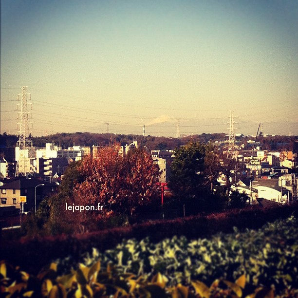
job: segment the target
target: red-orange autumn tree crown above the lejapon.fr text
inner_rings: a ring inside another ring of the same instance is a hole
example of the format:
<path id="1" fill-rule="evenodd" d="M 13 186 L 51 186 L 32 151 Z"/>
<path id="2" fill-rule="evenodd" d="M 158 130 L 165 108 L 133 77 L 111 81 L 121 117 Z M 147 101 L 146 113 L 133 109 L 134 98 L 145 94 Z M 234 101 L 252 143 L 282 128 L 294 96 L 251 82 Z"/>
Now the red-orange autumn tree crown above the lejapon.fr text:
<path id="1" fill-rule="evenodd" d="M 159 169 L 144 150 L 130 149 L 122 155 L 120 147 L 103 147 L 95 158 L 82 160 L 78 172 L 83 182 L 75 185 L 76 205 L 103 205 L 97 218 L 112 214 L 132 215 L 138 206 L 156 197 Z"/>

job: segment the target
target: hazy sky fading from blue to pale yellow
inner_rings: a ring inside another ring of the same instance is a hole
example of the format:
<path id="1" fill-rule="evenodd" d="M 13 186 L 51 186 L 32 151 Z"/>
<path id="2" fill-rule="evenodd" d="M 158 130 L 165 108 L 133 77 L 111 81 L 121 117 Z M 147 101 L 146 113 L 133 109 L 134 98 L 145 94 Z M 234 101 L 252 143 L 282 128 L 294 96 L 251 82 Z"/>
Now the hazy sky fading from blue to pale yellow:
<path id="1" fill-rule="evenodd" d="M 1 133 L 298 135 L 298 0 L 0 5 Z"/>

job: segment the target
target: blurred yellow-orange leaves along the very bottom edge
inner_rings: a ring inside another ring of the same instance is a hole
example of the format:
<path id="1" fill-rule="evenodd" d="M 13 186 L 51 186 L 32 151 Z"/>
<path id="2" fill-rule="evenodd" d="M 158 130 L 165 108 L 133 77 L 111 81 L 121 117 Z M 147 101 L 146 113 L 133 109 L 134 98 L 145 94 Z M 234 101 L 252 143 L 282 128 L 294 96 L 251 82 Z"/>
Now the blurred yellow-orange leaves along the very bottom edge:
<path id="1" fill-rule="evenodd" d="M 106 271 L 100 271 L 100 262 L 92 266 L 79 264 L 76 271 L 57 277 L 56 263 L 37 277 L 12 268 L 5 262 L 0 264 L 0 293 L 11 297 L 158 297 L 158 298 L 210 298 L 210 297 L 243 297 L 246 278 L 242 275 L 235 283 L 228 280 L 215 280 L 210 287 L 199 280 L 190 284 L 177 284 L 169 287 L 168 278 L 157 273 L 151 279 L 136 277 L 130 273 L 119 274 L 112 265 Z M 225 285 L 222 287 L 222 285 Z M 280 297 L 296 295 L 292 290 Z M 274 297 L 273 289 L 257 287 L 249 295 L 251 298 Z"/>

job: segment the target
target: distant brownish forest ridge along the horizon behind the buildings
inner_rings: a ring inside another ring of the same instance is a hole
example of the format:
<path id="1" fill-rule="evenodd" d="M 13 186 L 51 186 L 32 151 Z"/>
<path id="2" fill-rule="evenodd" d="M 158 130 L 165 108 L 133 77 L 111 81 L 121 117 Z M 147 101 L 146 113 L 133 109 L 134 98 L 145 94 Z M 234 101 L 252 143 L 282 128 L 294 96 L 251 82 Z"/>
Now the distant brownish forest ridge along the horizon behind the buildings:
<path id="1" fill-rule="evenodd" d="M 16 147 L 18 142 L 17 135 L 11 135 L 4 132 L 0 134 L 0 146 Z M 202 133 L 182 138 L 169 138 L 157 136 L 142 136 L 132 134 L 112 134 L 112 133 L 90 133 L 90 132 L 75 132 L 75 133 L 56 133 L 41 137 L 31 137 L 33 146 L 45 147 L 46 143 L 55 143 L 61 146 L 62 149 L 73 147 L 74 145 L 80 146 L 109 146 L 110 144 L 118 143 L 121 146 L 130 144 L 133 141 L 138 142 L 139 147 L 146 146 L 149 150 L 174 150 L 175 148 L 188 143 L 189 141 L 208 143 L 219 143 L 227 140 L 228 137 L 224 133 Z M 257 142 L 264 150 L 292 150 L 294 142 L 298 136 L 258 136 Z M 238 145 L 244 144 L 244 149 L 251 149 L 252 144 L 247 143 L 249 140 L 254 140 L 252 136 L 238 136 L 236 141 Z"/>

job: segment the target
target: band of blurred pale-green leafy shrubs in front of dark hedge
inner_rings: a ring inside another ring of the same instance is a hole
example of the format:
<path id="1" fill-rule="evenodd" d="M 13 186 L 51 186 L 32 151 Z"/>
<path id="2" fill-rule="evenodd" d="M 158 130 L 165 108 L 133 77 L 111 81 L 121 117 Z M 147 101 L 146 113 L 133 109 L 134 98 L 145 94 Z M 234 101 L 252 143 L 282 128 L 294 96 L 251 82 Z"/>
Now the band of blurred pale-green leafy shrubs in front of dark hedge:
<path id="1" fill-rule="evenodd" d="M 168 277 L 169 286 L 201 280 L 233 280 L 245 274 L 252 287 L 274 285 L 277 292 L 298 283 L 298 220 L 291 217 L 268 223 L 259 230 L 216 234 L 211 239 L 187 240 L 173 237 L 158 243 L 149 238 L 123 241 L 115 248 L 82 256 L 85 265 L 101 260 L 104 268 L 114 264 L 119 274 L 131 272 L 151 279 L 160 273 Z M 75 267 L 71 257 L 57 260 L 61 270 Z"/>

